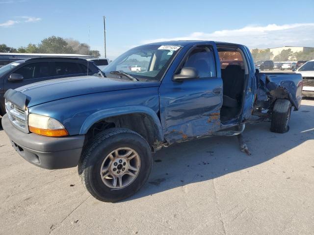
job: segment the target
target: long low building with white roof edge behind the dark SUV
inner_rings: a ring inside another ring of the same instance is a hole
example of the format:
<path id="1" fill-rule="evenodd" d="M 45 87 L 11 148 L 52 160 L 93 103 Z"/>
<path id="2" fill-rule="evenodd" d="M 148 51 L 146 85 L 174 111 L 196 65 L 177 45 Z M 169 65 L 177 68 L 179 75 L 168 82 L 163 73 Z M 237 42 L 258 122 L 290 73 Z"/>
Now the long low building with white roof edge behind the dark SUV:
<path id="1" fill-rule="evenodd" d="M 79 55 L 79 54 L 42 54 L 42 53 L 4 53 L 0 52 L 0 67 L 7 65 L 11 62 L 23 59 L 31 59 L 37 57 L 70 57 L 81 59 L 92 59 L 95 56 Z"/>

